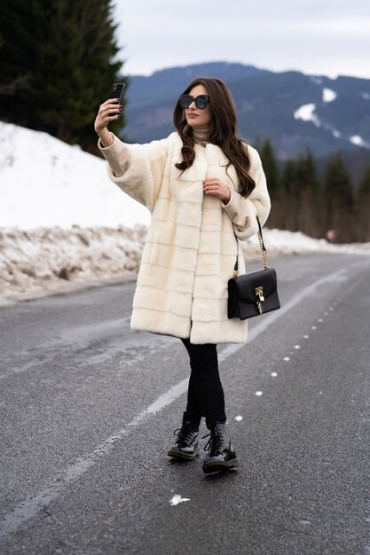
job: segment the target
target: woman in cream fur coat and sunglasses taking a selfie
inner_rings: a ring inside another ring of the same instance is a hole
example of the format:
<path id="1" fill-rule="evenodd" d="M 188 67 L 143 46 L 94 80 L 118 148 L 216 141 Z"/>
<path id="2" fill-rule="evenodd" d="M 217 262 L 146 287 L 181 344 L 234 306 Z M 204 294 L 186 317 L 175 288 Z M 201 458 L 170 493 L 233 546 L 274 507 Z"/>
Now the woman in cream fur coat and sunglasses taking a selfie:
<path id="1" fill-rule="evenodd" d="M 226 427 L 216 344 L 247 340 L 247 322 L 227 318 L 227 282 L 237 240 L 254 235 L 256 216 L 264 224 L 270 211 L 261 160 L 238 137 L 232 95 L 219 79 L 193 80 L 175 106 L 177 132 L 147 145 L 125 145 L 107 130 L 119 117 L 116 102 L 100 106 L 98 145 L 112 181 L 152 214 L 131 328 L 176 336 L 190 357 L 187 404 L 168 455 L 198 455 L 204 416 L 203 471 L 233 468 L 239 463 Z"/>

